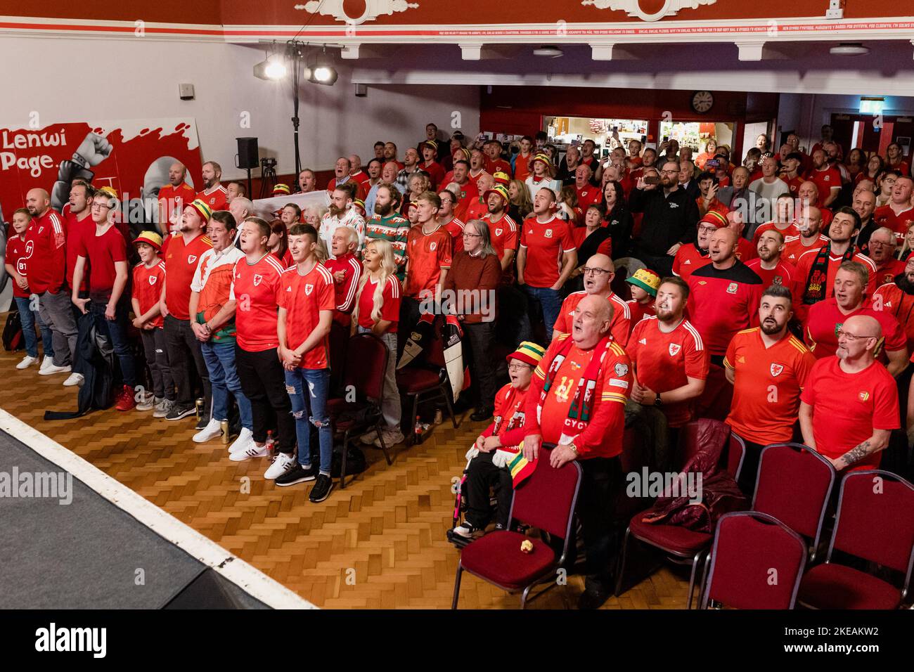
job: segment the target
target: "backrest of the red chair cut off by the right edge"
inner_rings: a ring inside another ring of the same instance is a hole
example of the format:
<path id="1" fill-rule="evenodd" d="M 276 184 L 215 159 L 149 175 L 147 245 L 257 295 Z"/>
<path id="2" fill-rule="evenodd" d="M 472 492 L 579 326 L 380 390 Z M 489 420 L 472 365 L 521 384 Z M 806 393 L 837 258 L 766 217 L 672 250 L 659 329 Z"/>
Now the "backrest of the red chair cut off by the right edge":
<path id="1" fill-rule="evenodd" d="M 828 560 L 834 549 L 905 573 L 914 559 L 914 485 L 881 469 L 851 472 L 841 483 Z"/>

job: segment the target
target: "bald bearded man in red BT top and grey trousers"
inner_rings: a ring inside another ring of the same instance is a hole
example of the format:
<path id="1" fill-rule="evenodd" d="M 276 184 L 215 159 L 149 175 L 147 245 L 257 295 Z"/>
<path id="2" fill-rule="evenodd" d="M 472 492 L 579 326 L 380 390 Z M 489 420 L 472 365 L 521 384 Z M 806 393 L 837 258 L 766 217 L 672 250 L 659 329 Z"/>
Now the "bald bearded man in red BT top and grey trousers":
<path id="1" fill-rule="evenodd" d="M 44 189 L 29 189 L 26 208 L 32 224 L 26 231 L 25 254 L 19 260 L 28 278 L 29 291 L 38 297 L 38 315 L 51 330 L 54 360 L 42 376 L 69 373 L 64 385 L 82 382 L 82 376 L 72 371 L 76 363 L 76 317 L 66 287 L 67 252 L 63 220 L 50 207 L 50 197 Z"/>

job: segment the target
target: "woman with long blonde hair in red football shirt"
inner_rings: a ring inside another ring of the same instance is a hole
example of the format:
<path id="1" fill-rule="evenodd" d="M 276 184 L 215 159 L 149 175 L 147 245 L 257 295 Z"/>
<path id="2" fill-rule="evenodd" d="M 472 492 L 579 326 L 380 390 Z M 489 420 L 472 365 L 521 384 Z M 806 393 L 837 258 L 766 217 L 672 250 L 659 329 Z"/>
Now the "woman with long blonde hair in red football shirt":
<path id="1" fill-rule="evenodd" d="M 400 283 L 397 261 L 388 240 L 369 239 L 362 252 L 365 272 L 358 283 L 356 308 L 352 314 L 352 329 L 359 334 L 371 332 L 380 336 L 388 347 L 388 368 L 384 373 L 384 398 L 381 412 L 386 427 L 381 432 L 385 445 L 403 441 L 399 430 L 400 403 L 397 389 L 397 323 L 399 322 Z M 362 437 L 363 443 L 381 447 L 380 437 L 371 432 Z"/>

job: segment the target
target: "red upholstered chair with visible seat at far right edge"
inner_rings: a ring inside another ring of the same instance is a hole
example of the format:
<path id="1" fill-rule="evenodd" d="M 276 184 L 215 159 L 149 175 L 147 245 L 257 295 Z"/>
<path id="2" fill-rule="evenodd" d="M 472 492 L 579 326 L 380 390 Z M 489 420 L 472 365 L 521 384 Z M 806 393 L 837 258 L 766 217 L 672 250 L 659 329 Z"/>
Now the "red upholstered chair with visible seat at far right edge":
<path id="1" fill-rule="evenodd" d="M 824 564 L 802 577 L 799 602 L 813 609 L 898 609 L 914 563 L 914 485 L 880 469 L 845 475 Z M 834 550 L 904 576 L 901 588 L 832 561 Z"/>

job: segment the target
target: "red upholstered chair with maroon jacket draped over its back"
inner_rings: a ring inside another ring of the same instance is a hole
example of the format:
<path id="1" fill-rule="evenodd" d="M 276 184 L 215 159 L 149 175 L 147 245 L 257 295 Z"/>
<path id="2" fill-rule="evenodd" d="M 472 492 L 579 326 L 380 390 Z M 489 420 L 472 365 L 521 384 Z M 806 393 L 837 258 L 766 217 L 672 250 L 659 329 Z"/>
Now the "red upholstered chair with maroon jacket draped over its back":
<path id="1" fill-rule="evenodd" d="M 707 420 L 704 420 L 707 422 Z M 679 446 L 680 455 L 691 458 L 696 453 L 696 446 L 690 443 L 696 442 L 697 432 L 696 422 L 689 422 L 683 428 L 684 443 Z M 729 433 L 728 445 L 721 455 L 721 459 L 727 468 L 728 474 L 733 476 L 734 480 L 739 478 L 739 469 L 742 466 L 743 458 L 746 456 L 746 444 L 733 432 Z M 685 463 L 683 463 L 685 464 Z M 682 464 L 680 464 L 682 466 Z M 629 537 L 634 537 L 645 544 L 661 549 L 666 554 L 666 559 L 676 564 L 687 564 L 692 568 L 688 581 L 688 602 L 686 607 L 692 608 L 693 594 L 696 587 L 696 575 L 698 567 L 702 563 L 703 556 L 707 555 L 707 549 L 711 546 L 713 535 L 707 532 L 696 532 L 694 530 L 683 528 L 678 525 L 665 525 L 664 523 L 652 524 L 645 523 L 642 520 L 643 511 L 632 516 L 628 528 L 625 529 L 625 538 L 622 541 L 622 554 L 619 561 L 619 571 L 616 578 L 615 594 L 622 592 L 622 581 L 625 575 L 625 560 L 628 554 Z"/>

